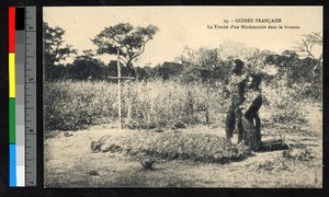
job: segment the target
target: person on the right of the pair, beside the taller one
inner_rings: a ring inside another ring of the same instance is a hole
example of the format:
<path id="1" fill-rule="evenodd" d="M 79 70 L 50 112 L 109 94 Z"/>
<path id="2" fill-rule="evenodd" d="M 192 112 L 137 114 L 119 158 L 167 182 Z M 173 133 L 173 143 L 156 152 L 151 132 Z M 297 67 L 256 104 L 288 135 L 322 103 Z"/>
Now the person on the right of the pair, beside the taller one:
<path id="1" fill-rule="evenodd" d="M 262 106 L 262 93 L 260 89 L 261 76 L 250 74 L 248 81 L 248 91 L 246 91 L 246 101 L 240 106 L 242 112 L 242 128 L 245 135 L 245 144 L 251 150 L 257 151 L 262 148 L 261 142 L 261 120 L 259 109 Z"/>

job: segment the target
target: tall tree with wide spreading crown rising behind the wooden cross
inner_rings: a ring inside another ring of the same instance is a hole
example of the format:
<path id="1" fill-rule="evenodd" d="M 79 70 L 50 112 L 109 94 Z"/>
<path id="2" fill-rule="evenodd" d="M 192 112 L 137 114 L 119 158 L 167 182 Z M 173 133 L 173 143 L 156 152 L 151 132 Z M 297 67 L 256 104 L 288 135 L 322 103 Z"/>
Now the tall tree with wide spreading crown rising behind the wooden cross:
<path id="1" fill-rule="evenodd" d="M 91 40 L 98 46 L 99 55 L 116 55 L 118 50 L 120 59 L 132 69 L 133 60 L 144 53 L 146 43 L 152 39 L 158 31 L 155 25 L 134 27 L 129 23 L 118 23 L 105 27 Z"/>

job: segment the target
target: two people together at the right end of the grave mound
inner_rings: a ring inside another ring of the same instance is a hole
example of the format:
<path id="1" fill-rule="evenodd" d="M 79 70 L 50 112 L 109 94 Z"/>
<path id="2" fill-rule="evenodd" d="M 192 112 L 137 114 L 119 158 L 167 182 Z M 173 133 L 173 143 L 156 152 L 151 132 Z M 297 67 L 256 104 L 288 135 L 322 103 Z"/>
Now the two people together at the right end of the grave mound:
<path id="1" fill-rule="evenodd" d="M 243 61 L 236 59 L 229 83 L 230 105 L 226 116 L 226 138 L 231 141 L 234 130 L 238 130 L 237 143 L 249 146 L 251 150 L 261 150 L 261 120 L 259 109 L 262 106 L 261 76 L 243 73 Z"/>

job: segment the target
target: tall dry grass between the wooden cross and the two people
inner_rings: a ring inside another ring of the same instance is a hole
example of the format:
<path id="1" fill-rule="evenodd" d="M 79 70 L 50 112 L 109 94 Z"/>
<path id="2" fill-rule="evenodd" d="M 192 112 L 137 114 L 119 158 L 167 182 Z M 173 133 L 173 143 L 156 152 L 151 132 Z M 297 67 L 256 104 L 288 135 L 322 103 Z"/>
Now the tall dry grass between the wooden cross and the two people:
<path id="1" fill-rule="evenodd" d="M 155 80 L 131 85 L 131 89 L 127 86 L 123 89 L 123 95 L 125 108 L 128 100 L 132 102 L 135 128 L 171 127 L 177 123 L 206 124 L 207 111 L 213 115 L 211 117 L 213 121 L 220 121 L 215 114 L 224 111 L 223 106 L 226 106 L 220 84 L 184 84 Z"/>

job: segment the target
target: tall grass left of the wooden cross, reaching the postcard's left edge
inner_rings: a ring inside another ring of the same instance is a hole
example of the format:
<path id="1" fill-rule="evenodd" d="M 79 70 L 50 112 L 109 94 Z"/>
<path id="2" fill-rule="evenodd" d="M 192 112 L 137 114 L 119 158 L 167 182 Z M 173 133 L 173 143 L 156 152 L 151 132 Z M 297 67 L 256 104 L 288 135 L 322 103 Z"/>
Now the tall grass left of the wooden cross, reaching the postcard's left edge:
<path id="1" fill-rule="evenodd" d="M 117 116 L 115 92 L 115 86 L 105 82 L 44 83 L 45 130 L 77 130 L 109 123 Z"/>

